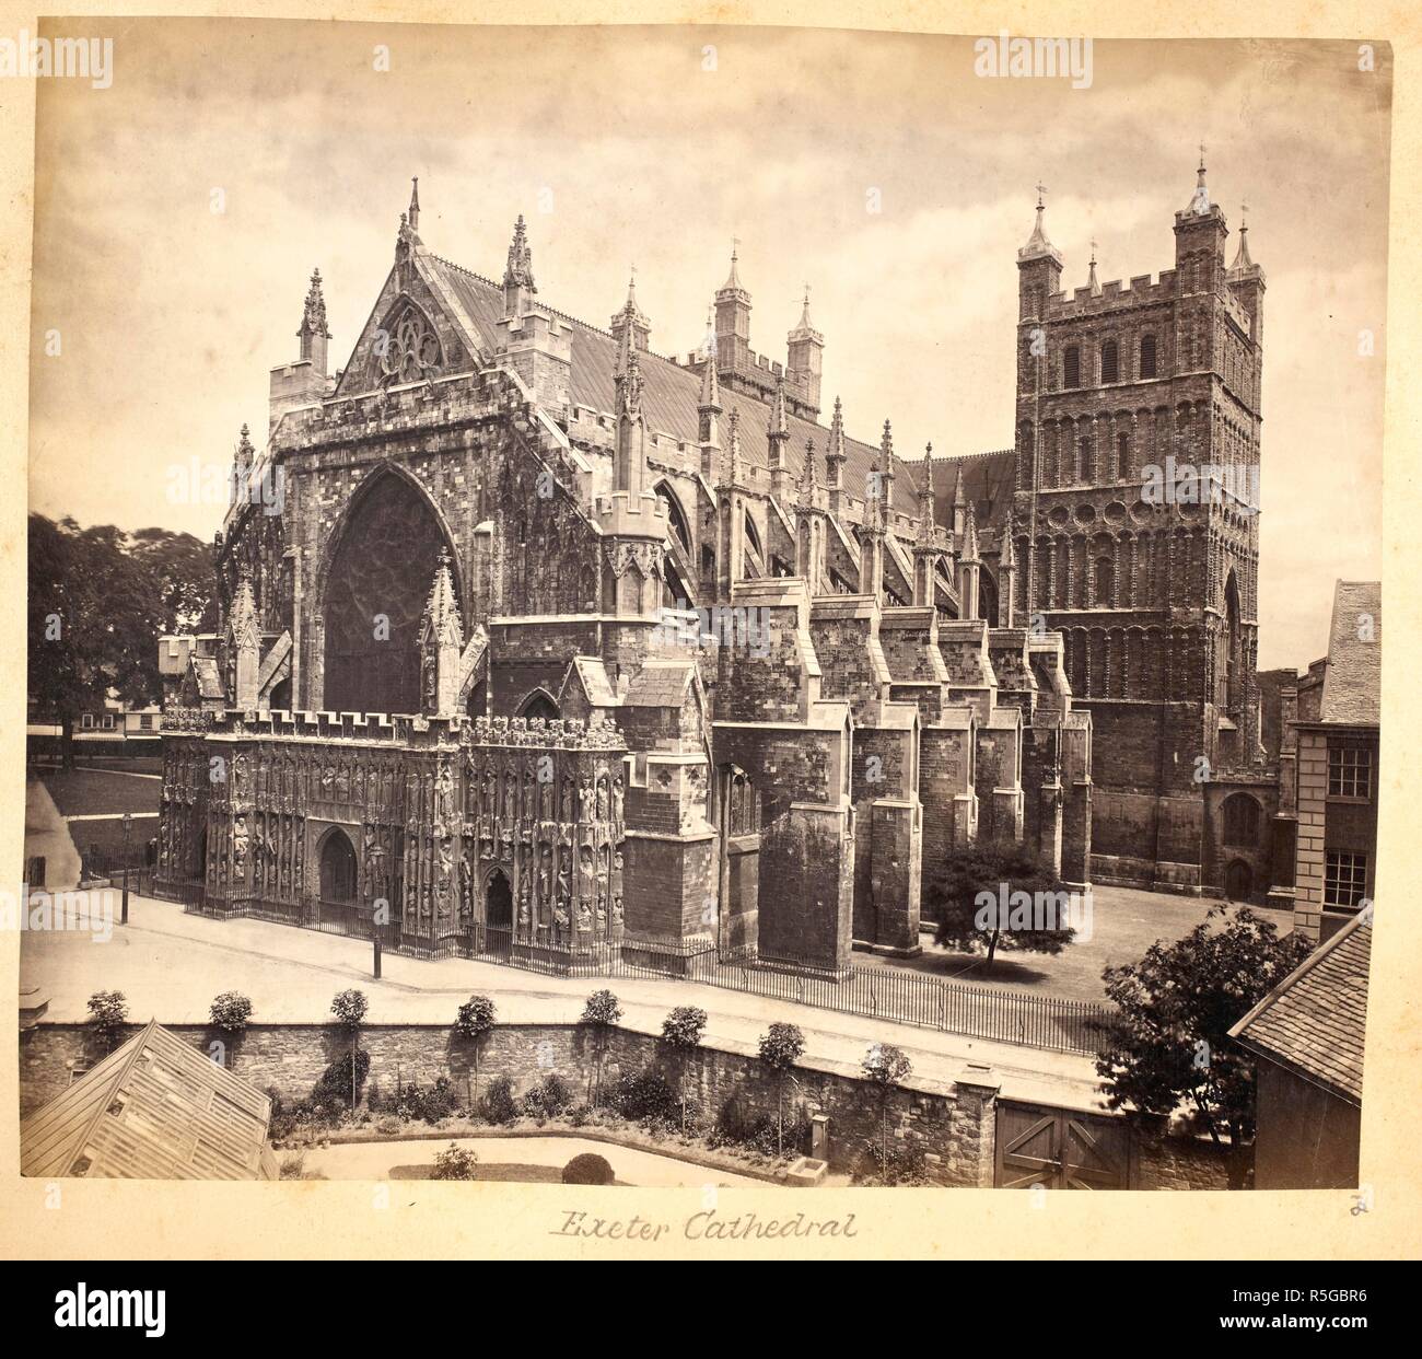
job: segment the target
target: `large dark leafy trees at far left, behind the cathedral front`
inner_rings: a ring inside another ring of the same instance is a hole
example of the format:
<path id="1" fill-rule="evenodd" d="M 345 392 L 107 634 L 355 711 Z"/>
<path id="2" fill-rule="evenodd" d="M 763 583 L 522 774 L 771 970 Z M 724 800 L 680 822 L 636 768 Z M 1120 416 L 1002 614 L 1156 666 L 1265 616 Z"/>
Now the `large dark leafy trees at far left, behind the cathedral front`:
<path id="1" fill-rule="evenodd" d="M 30 515 L 28 689 L 60 723 L 74 766 L 74 723 L 111 694 L 129 706 L 162 696 L 158 638 L 210 625 L 212 551 L 189 534 L 112 525 L 81 529 Z"/>

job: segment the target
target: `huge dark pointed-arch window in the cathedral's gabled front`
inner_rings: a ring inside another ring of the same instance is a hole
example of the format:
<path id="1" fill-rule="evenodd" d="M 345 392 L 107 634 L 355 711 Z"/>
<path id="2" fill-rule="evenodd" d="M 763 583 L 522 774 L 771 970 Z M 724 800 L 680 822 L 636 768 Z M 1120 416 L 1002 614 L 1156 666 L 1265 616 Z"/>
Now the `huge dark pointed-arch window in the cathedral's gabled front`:
<path id="1" fill-rule="evenodd" d="M 444 529 L 398 472 L 377 472 L 356 494 L 321 599 L 323 707 L 418 713 L 419 619 L 447 546 Z"/>

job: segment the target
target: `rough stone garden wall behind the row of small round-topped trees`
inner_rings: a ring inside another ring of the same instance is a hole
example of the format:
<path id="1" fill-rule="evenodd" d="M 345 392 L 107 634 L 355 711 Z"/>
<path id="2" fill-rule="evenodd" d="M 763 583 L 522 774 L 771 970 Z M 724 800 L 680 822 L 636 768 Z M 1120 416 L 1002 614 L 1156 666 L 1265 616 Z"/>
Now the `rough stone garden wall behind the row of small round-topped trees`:
<path id="1" fill-rule="evenodd" d="M 129 1025 L 122 1039 L 141 1025 Z M 171 1025 L 171 1033 L 210 1053 L 222 1035 L 206 1025 Z M 226 1062 L 233 1074 L 260 1090 L 276 1090 L 286 1100 L 307 1099 L 321 1072 L 347 1050 L 346 1037 L 330 1025 L 252 1025 L 230 1045 Z M 448 1025 L 370 1025 L 361 1032 L 370 1053 L 368 1094 L 392 1091 L 397 1083 L 428 1086 L 448 1076 L 464 1090 L 472 1084 L 474 1049 Z M 92 1066 L 91 1032 L 80 1023 L 41 1023 L 20 1035 L 20 1116 L 26 1117 L 70 1084 L 74 1067 Z M 562 1076 L 586 1099 L 593 1069 L 593 1033 L 582 1025 L 498 1025 L 479 1049 L 479 1084 L 508 1076 L 516 1094 L 546 1076 Z M 614 1029 L 603 1070 L 603 1089 L 624 1072 L 651 1067 L 673 1089 L 678 1083 L 678 1054 L 656 1035 L 631 1027 Z M 778 1089 L 754 1047 L 732 1040 L 702 1046 L 685 1066 L 688 1097 L 710 1121 L 731 1097 L 745 1117 L 774 1119 Z M 900 1148 L 917 1146 L 927 1158 L 936 1184 L 988 1188 L 993 1184 L 997 1077 L 985 1069 L 967 1067 L 951 1083 L 910 1076 L 889 1094 L 890 1138 Z M 880 1090 L 856 1066 L 822 1059 L 802 1059 L 785 1086 L 786 1124 L 803 1110 L 828 1119 L 830 1170 L 849 1173 L 866 1146 L 882 1136 Z M 1224 1160 L 1212 1148 L 1177 1137 L 1142 1137 L 1138 1168 L 1142 1188 L 1224 1188 Z M 809 1150 L 802 1148 L 802 1150 Z"/>

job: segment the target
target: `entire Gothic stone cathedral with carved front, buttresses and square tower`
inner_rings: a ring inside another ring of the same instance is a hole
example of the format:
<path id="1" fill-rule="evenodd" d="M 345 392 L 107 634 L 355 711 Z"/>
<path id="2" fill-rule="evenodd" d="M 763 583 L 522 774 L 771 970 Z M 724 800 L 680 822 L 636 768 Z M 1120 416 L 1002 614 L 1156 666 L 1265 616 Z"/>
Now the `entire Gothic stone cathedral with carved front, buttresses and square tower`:
<path id="1" fill-rule="evenodd" d="M 432 253 L 417 182 L 334 371 L 313 275 L 219 630 L 161 642 L 156 889 L 435 956 L 842 976 L 917 952 L 973 841 L 1214 888 L 1212 790 L 1268 784 L 1257 515 L 1142 487 L 1257 468 L 1264 280 L 1203 165 L 1175 238 L 1066 293 L 1038 199 L 1014 447 L 900 457 L 822 393 L 808 296 L 784 361 L 751 347 L 735 252 L 664 357 L 634 285 L 606 327 L 545 302 L 522 218 L 502 282 Z"/>

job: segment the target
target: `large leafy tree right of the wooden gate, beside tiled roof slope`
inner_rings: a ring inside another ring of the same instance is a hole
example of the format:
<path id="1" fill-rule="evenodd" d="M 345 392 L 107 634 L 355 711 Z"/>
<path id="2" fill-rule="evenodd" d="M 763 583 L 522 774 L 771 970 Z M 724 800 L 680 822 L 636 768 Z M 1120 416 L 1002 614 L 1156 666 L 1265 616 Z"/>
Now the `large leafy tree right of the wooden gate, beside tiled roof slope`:
<path id="1" fill-rule="evenodd" d="M 1254 1072 L 1229 1030 L 1307 956 L 1305 939 L 1281 939 L 1273 921 L 1221 904 L 1183 939 L 1106 968 L 1116 1013 L 1102 1026 L 1096 1072 L 1108 1104 L 1169 1117 L 1187 1103 L 1217 1146 L 1229 1138 L 1231 1184 L 1243 1185 Z"/>

